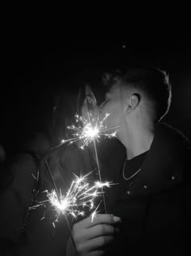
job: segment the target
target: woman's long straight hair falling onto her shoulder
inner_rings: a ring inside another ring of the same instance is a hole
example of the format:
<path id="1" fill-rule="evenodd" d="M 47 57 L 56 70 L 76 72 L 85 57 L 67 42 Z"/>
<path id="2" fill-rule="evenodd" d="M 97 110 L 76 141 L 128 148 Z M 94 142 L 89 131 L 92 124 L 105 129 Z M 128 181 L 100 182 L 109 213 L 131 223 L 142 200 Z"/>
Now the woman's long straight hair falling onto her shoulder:
<path id="1" fill-rule="evenodd" d="M 62 145 L 62 140 L 72 137 L 70 129 L 67 127 L 74 123 L 74 115 L 77 111 L 78 89 L 59 89 L 54 95 L 52 124 L 49 128 L 49 137 L 51 146 L 49 150 L 40 159 L 40 180 L 52 182 L 53 180 L 59 184 L 63 180 L 63 172 L 65 167 L 61 161 L 62 155 L 65 154 L 66 145 Z M 70 145 L 74 147 L 74 145 Z M 48 169 L 49 168 L 49 169 Z M 52 177 L 49 174 L 52 173 Z"/>

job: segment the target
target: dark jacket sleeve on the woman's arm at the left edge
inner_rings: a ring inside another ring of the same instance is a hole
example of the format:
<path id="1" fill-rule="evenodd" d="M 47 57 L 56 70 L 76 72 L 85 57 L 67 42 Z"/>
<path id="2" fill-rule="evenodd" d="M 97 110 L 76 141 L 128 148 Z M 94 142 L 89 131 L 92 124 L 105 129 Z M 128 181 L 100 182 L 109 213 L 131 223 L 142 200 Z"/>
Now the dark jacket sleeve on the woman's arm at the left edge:
<path id="1" fill-rule="evenodd" d="M 11 164 L 11 183 L 0 196 L 0 252 L 12 255 L 19 243 L 26 207 L 31 201 L 36 163 L 29 154 L 22 154 Z"/>

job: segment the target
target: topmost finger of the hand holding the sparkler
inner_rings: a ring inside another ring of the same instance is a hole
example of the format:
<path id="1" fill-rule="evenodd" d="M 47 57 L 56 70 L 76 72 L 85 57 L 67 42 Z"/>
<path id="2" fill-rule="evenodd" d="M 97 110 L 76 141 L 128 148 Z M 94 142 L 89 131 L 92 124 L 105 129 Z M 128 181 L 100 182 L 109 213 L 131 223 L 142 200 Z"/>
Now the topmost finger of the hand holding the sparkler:
<path id="1" fill-rule="evenodd" d="M 78 228 L 91 228 L 93 226 L 96 226 L 97 224 L 101 223 L 107 223 L 107 224 L 113 224 L 117 223 L 121 219 L 114 215 L 96 215 L 96 217 L 91 221 L 91 215 L 87 217 L 86 219 L 81 220 L 79 223 L 76 223 L 74 227 Z"/>

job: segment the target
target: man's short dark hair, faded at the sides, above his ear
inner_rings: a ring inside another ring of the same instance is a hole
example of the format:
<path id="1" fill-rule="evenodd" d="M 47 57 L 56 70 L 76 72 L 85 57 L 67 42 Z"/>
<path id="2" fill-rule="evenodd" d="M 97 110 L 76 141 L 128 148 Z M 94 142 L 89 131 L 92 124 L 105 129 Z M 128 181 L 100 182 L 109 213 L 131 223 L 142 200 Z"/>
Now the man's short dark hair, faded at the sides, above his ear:
<path id="1" fill-rule="evenodd" d="M 166 72 L 156 67 L 138 67 L 129 69 L 125 75 L 117 71 L 117 75 L 104 78 L 104 84 L 109 87 L 117 82 L 144 93 L 155 109 L 155 122 L 159 122 L 168 113 L 172 90 Z"/>

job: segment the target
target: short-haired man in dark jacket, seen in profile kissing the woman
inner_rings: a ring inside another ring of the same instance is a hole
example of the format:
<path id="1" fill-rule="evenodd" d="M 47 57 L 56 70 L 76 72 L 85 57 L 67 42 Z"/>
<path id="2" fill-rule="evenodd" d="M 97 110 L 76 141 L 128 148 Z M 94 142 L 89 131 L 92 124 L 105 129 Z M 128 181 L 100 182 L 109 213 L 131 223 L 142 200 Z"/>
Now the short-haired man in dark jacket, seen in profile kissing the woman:
<path id="1" fill-rule="evenodd" d="M 110 113 L 107 127 L 120 126 L 117 138 L 126 154 L 124 158 L 115 152 L 116 161 L 110 156 L 106 171 L 102 170 L 107 180 L 119 183 L 105 193 L 108 212 L 115 217 L 98 214 L 94 223 L 90 218 L 75 223 L 77 250 L 83 256 L 188 255 L 187 140 L 159 123 L 171 103 L 168 76 L 156 68 L 138 68 L 108 84 L 100 117 Z"/>

